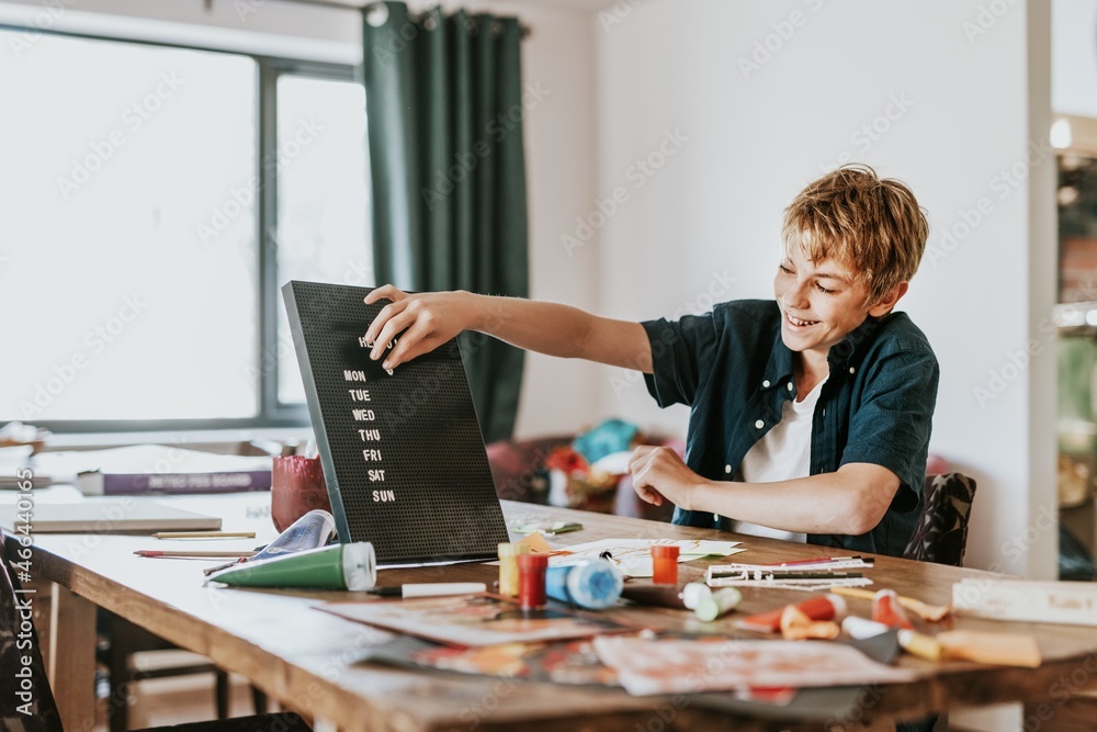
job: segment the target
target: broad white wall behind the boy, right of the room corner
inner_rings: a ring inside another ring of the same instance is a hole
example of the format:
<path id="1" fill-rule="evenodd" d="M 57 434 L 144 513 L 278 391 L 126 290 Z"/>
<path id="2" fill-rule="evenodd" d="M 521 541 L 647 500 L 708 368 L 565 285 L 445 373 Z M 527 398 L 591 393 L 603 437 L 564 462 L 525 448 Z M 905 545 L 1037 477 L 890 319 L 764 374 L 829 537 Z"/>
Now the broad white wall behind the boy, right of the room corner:
<path id="1" fill-rule="evenodd" d="M 687 139 L 606 225 L 602 302 L 623 317 L 703 309 L 727 277 L 725 297 L 769 297 L 781 212 L 804 183 L 845 153 L 906 181 L 929 211 L 931 251 L 902 307 L 941 362 L 932 450 L 980 482 L 969 564 L 1047 577 L 1054 531 L 1032 527 L 1048 526 L 1037 519 L 1055 498 L 1052 349 L 1038 329 L 1053 303 L 1054 164 L 1026 162 L 1047 137 L 1045 32 L 1043 78 L 1026 79 L 1028 31 L 1048 5 L 1029 9 L 1031 23 L 1022 2 L 1002 16 L 981 18 L 984 7 L 656 0 L 607 29 L 602 193 L 665 131 Z M 1002 171 L 1015 165 L 1013 185 Z M 660 414 L 643 385 L 618 394 L 612 379 L 604 412 L 685 430 L 683 409 Z"/>

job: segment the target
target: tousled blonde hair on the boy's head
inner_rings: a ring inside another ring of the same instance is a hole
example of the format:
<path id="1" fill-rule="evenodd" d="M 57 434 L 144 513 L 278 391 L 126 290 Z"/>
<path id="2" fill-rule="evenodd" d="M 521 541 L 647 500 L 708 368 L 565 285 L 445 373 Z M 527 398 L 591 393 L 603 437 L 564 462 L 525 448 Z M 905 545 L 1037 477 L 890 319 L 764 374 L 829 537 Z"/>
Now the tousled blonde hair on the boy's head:
<path id="1" fill-rule="evenodd" d="M 796 245 L 808 260 L 850 268 L 875 303 L 914 277 L 929 223 L 905 184 L 881 179 L 866 165 L 848 165 L 804 188 L 784 210 L 785 256 Z"/>

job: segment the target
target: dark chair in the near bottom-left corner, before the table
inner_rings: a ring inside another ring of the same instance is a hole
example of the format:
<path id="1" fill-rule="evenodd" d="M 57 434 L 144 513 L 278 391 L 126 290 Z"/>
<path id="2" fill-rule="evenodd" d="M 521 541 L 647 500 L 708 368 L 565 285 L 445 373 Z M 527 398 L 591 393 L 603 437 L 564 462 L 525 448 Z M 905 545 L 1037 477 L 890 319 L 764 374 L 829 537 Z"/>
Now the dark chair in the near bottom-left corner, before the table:
<path id="1" fill-rule="evenodd" d="M 4 732 L 64 732 L 57 703 L 46 677 L 38 638 L 19 577 L 7 556 L 7 537 L 0 533 L 0 729 Z M 12 539 L 11 541 L 15 541 Z M 26 665 L 26 661 L 30 665 Z M 23 669 L 26 668 L 26 673 Z M 88 679 L 91 684 L 92 679 Z M 14 701 L 14 703 L 12 702 Z M 26 705 L 23 707 L 23 705 Z M 155 728 L 155 732 L 312 732 L 293 712 L 236 717 Z M 146 732 L 154 732 L 147 730 Z"/>

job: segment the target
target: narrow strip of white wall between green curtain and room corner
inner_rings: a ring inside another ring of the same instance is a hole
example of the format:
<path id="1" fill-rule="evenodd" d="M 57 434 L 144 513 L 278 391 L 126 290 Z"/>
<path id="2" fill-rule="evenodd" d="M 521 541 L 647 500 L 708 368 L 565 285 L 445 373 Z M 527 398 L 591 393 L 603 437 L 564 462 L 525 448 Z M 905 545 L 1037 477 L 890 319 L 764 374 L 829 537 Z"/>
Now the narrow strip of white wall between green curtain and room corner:
<path id="1" fill-rule="evenodd" d="M 590 15 L 518 2 L 488 7 L 517 14 L 530 26 L 522 47 L 523 76 L 548 92 L 525 117 L 530 295 L 597 309 L 597 247 L 568 249 L 561 243 L 598 190 L 597 55 Z M 602 417 L 595 365 L 536 353 L 528 354 L 525 364 L 517 436 L 573 432 Z"/>

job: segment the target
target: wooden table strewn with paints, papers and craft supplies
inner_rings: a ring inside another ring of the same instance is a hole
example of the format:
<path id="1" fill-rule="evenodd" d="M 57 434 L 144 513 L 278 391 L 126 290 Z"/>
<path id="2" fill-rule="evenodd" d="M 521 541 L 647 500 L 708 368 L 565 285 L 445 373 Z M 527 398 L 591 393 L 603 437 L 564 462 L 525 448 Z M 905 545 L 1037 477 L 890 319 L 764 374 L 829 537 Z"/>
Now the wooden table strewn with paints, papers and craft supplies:
<path id="1" fill-rule="evenodd" d="M 162 499 L 160 499 L 162 500 Z M 171 498 L 182 507 L 219 514 L 225 530 L 258 528 L 260 538 L 242 540 L 249 547 L 273 537 L 267 518 L 247 518 L 269 502 L 264 494 L 190 496 Z M 818 555 L 818 550 L 751 537 L 732 537 L 713 530 L 570 511 L 504 502 L 508 517 L 552 516 L 580 521 L 585 529 L 553 539 L 556 545 L 604 538 L 708 538 L 744 540 L 748 552 L 737 559 L 776 562 Z M 42 578 L 63 588 L 61 607 L 54 613 L 53 653 L 59 668 L 91 667 L 93 634 L 91 613 L 106 608 L 172 643 L 202 653 L 219 666 L 239 673 L 282 705 L 317 720 L 326 729 L 346 730 L 706 730 L 734 729 L 846 729 L 866 724 L 875 729 L 895 719 L 909 719 L 958 706 L 1022 701 L 1052 718 L 1062 707 L 1064 689 L 1075 692 L 1097 688 L 1097 630 L 1094 628 L 959 619 L 957 628 L 1016 631 L 1034 634 L 1044 656 L 1037 669 L 977 666 L 966 663 L 934 665 L 906 656 L 903 665 L 928 676 L 895 686 L 855 689 L 856 703 L 841 719 L 796 720 L 745 716 L 739 711 L 702 708 L 689 697 L 634 698 L 620 689 L 565 687 L 509 679 L 462 676 L 441 672 L 412 672 L 361 663 L 366 651 L 389 637 L 367 626 L 314 610 L 314 606 L 349 599 L 351 593 L 239 590 L 203 586 L 206 562 L 143 559 L 136 549 L 171 549 L 179 541 L 157 541 L 132 536 L 35 537 L 33 568 Z M 185 544 L 182 544 L 185 545 Z M 210 547 L 239 548 L 226 540 Z M 682 579 L 702 578 L 706 562 L 681 565 Z M 402 582 L 483 581 L 490 583 L 498 568 L 456 565 L 416 570 L 384 570 L 378 584 Z M 878 558 L 871 575 L 877 587 L 890 586 L 901 595 L 932 604 L 948 604 L 952 583 L 971 576 L 989 576 L 971 570 Z M 71 590 L 68 595 L 66 590 Z M 798 601 L 803 593 L 773 589 L 744 592 L 743 612 L 756 612 Z M 82 598 L 82 599 L 81 599 Z M 87 600 L 87 601 L 84 601 Z M 868 616 L 869 604 L 850 600 L 850 610 Z M 630 607 L 611 612 L 630 623 L 666 629 L 712 631 L 739 637 L 735 616 L 703 624 L 682 610 Z M 55 696 L 67 701 L 63 711 L 68 729 L 90 729 L 93 716 L 91 679 L 87 672 L 58 685 Z M 82 685 L 68 687 L 72 683 Z M 86 695 L 86 696 L 81 696 Z M 81 699 L 83 699 L 81 701 Z M 1043 729 L 1052 729 L 1044 727 Z"/>

